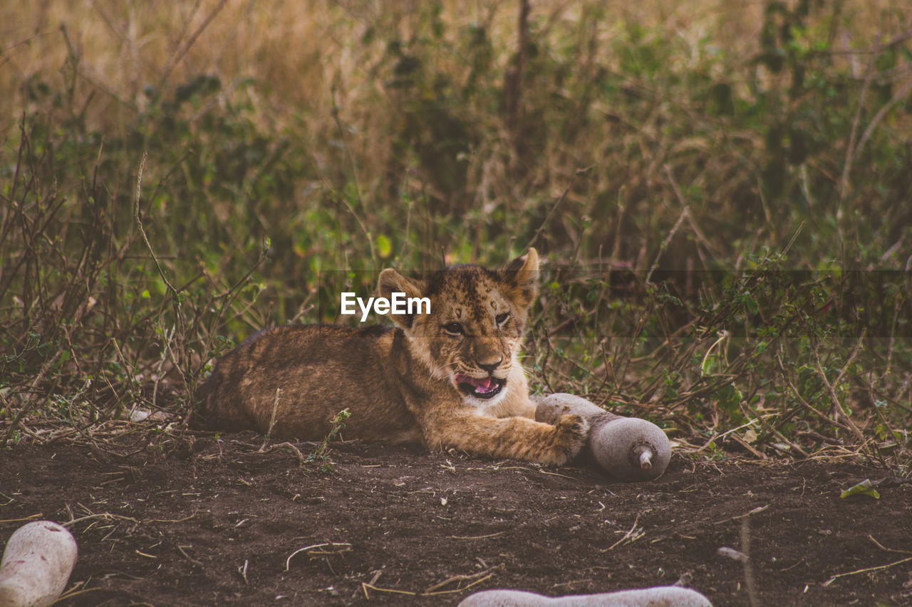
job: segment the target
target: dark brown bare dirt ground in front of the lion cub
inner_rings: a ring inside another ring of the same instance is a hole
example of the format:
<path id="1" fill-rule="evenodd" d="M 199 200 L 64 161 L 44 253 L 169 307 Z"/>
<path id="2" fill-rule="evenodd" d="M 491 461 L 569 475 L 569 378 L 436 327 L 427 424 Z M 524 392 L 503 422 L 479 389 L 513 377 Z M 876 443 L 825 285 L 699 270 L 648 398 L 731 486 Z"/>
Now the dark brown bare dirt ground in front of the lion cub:
<path id="1" fill-rule="evenodd" d="M 257 452 L 254 435 L 170 445 L 0 452 L 0 542 L 26 520 L 72 521 L 72 605 L 448 605 L 678 581 L 717 606 L 751 592 L 912 604 L 912 484 L 884 469 L 676 454 L 661 478 L 622 484 L 585 464 L 358 442 L 335 445 L 326 471 L 291 448 Z M 880 499 L 840 498 L 865 478 L 883 479 Z"/>

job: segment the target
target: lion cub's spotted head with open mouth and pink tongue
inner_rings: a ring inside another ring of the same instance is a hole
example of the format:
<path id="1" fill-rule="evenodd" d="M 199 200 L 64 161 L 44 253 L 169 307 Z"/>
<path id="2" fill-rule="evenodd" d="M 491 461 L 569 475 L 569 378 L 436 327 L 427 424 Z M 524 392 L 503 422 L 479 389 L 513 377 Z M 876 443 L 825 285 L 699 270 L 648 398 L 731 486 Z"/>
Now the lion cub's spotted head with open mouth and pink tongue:
<path id="1" fill-rule="evenodd" d="M 378 291 L 430 299 L 430 314 L 390 314 L 430 376 L 451 382 L 470 404 L 492 406 L 524 375 L 517 355 L 526 313 L 538 293 L 538 253 L 498 270 L 456 265 L 427 280 L 380 273 Z"/>

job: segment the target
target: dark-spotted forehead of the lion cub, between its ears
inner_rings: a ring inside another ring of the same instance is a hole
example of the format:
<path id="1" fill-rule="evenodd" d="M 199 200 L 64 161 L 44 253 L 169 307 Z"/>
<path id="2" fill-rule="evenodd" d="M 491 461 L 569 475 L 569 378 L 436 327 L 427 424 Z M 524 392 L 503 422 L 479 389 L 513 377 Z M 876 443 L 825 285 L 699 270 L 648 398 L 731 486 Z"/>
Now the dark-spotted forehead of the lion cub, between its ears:
<path id="1" fill-rule="evenodd" d="M 434 273 L 426 293 L 435 313 L 463 322 L 482 322 L 510 309 L 506 287 L 492 270 L 462 265 Z"/>

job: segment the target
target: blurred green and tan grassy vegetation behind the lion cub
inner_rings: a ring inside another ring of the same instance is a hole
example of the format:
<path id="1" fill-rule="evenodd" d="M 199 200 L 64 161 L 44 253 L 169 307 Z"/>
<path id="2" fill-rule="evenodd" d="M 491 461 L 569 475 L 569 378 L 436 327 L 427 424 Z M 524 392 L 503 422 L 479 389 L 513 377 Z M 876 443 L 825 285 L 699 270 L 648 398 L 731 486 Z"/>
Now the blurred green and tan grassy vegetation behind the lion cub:
<path id="1" fill-rule="evenodd" d="M 908 470 L 906 2 L 0 16 L 0 445 L 171 436 L 245 335 L 534 245 L 537 390 Z"/>

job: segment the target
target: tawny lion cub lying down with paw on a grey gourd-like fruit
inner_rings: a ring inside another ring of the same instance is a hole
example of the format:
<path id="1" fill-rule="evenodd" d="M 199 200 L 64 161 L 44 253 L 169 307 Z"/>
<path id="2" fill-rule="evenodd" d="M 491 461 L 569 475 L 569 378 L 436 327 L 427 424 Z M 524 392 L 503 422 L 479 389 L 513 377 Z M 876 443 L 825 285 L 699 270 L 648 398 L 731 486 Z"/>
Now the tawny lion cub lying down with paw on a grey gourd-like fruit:
<path id="1" fill-rule="evenodd" d="M 213 429 L 266 434 L 273 423 L 273 437 L 317 440 L 347 408 L 345 438 L 564 464 L 588 424 L 534 421 L 518 359 L 537 273 L 534 249 L 498 270 L 457 265 L 427 280 L 384 270 L 381 296 L 427 297 L 430 314 L 390 314 L 395 327 L 265 329 L 215 365 L 202 414 Z"/>

